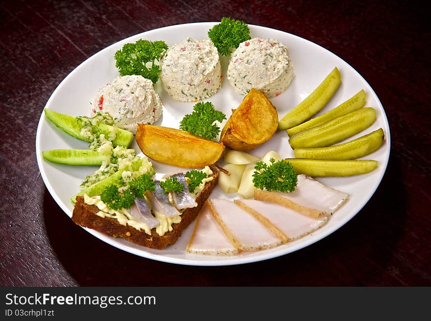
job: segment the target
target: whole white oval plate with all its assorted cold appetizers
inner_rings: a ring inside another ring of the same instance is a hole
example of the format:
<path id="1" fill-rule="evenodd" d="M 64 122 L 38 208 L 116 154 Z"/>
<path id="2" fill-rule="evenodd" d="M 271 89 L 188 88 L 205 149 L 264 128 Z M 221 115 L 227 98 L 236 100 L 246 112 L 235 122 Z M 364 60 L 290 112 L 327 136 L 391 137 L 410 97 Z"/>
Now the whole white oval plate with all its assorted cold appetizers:
<path id="1" fill-rule="evenodd" d="M 73 222 L 186 265 L 261 261 L 330 235 L 376 191 L 389 151 L 383 106 L 355 69 L 230 18 L 96 53 L 52 93 L 36 135 Z"/>

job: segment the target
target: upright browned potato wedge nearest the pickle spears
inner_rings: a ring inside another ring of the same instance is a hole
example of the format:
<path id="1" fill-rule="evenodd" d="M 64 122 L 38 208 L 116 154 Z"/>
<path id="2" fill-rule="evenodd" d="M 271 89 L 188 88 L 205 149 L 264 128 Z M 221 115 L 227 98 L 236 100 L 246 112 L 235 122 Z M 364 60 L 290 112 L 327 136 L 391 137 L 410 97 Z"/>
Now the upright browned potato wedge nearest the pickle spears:
<path id="1" fill-rule="evenodd" d="M 251 88 L 221 130 L 220 142 L 232 150 L 253 150 L 278 127 L 277 109 L 263 92 Z"/>

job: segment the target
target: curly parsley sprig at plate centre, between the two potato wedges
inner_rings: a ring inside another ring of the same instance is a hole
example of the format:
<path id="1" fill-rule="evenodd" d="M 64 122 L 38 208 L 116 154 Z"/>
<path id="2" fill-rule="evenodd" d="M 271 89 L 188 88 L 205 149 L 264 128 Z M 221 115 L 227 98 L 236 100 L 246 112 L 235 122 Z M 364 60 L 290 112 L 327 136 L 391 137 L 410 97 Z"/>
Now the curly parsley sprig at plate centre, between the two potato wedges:
<path id="1" fill-rule="evenodd" d="M 214 122 L 221 123 L 223 119 L 226 119 L 226 115 L 216 110 L 211 102 L 200 101 L 193 106 L 193 112 L 181 120 L 180 129 L 211 140 L 220 132 Z"/>

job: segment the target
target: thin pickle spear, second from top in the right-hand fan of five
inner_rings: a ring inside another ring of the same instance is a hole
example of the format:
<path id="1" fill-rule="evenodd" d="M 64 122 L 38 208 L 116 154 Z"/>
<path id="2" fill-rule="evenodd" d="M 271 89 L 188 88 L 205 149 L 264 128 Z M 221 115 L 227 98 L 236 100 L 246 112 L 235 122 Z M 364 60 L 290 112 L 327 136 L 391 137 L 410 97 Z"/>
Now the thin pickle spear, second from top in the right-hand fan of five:
<path id="1" fill-rule="evenodd" d="M 343 116 L 353 110 L 359 109 L 360 107 L 364 107 L 365 99 L 366 94 L 365 91 L 362 89 L 355 96 L 346 100 L 344 103 L 338 105 L 334 109 L 331 109 L 330 111 L 324 113 L 323 115 L 310 119 L 309 121 L 299 124 L 298 126 L 287 129 L 287 135 L 293 136 L 300 131 L 325 124 L 326 122 L 329 122 L 336 117 Z"/>

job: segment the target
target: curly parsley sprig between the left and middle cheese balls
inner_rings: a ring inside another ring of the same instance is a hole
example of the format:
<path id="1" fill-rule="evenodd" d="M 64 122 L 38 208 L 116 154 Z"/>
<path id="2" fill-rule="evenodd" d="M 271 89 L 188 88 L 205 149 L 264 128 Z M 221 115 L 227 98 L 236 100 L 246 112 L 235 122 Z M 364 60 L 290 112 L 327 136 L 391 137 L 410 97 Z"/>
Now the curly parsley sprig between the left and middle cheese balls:
<path id="1" fill-rule="evenodd" d="M 156 64 L 163 53 L 168 50 L 168 45 L 164 41 L 138 40 L 136 43 L 126 43 L 122 49 L 118 50 L 114 58 L 115 66 L 119 69 L 120 75 L 141 75 L 157 83 L 160 66 Z M 146 64 L 151 62 L 151 67 Z"/>

